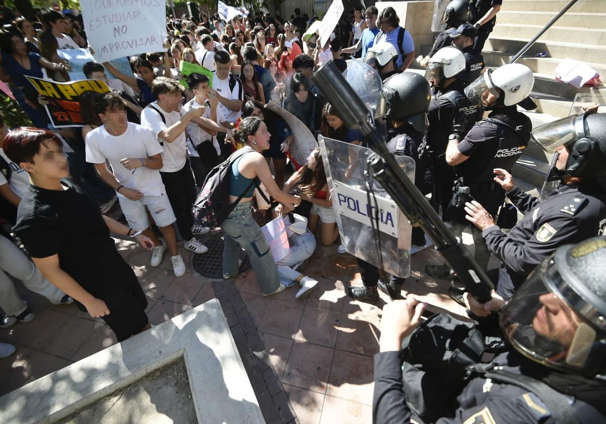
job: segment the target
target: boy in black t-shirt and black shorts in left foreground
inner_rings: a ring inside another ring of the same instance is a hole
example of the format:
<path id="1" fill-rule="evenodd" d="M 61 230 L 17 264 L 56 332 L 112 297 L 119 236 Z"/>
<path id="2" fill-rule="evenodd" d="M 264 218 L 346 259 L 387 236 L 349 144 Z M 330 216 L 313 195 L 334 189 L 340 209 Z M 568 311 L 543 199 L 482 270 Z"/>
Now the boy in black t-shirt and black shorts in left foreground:
<path id="1" fill-rule="evenodd" d="M 120 256 L 110 231 L 153 242 L 99 212 L 96 202 L 68 178 L 61 141 L 50 131 L 21 127 L 4 140 L 10 159 L 30 174 L 15 235 L 42 276 L 76 300 L 82 311 L 101 317 L 118 342 L 150 328 L 147 299 L 132 268 Z"/>

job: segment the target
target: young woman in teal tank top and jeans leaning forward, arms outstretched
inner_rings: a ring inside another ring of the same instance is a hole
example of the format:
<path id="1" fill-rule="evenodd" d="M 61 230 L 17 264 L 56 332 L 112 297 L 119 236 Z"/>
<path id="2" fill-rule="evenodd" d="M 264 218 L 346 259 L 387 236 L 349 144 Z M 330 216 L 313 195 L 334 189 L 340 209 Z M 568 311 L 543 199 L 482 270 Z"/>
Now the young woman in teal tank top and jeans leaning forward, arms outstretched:
<path id="1" fill-rule="evenodd" d="M 286 210 L 301 204 L 301 198 L 280 190 L 271 176 L 269 166 L 262 151 L 270 147 L 270 134 L 261 119 L 254 116 L 242 119 L 232 133 L 234 139 L 245 145 L 247 153 L 242 154 L 231 165 L 230 202 L 238 205 L 222 224 L 225 247 L 223 249 L 223 277 L 228 279 L 238 275 L 238 257 L 241 249 L 248 253 L 250 263 L 264 296 L 278 293 L 285 286 L 280 282 L 276 263 L 261 228 L 253 219 L 252 202 L 255 186 L 262 182 L 275 200 L 285 205 Z M 256 184 L 250 189 L 251 182 Z M 248 190 L 247 190 L 248 189 Z"/>

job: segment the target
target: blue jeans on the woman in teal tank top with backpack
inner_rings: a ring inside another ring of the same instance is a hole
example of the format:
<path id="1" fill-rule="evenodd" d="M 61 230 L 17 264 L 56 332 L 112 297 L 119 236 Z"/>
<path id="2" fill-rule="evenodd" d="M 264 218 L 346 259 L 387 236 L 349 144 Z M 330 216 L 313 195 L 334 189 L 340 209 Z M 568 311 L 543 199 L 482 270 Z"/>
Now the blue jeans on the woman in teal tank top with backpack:
<path id="1" fill-rule="evenodd" d="M 223 273 L 238 274 L 240 249 L 248 254 L 253 272 L 263 294 L 274 293 L 280 287 L 276 263 L 265 235 L 253 219 L 252 202 L 236 205 L 221 224 L 225 246 L 223 248 Z"/>

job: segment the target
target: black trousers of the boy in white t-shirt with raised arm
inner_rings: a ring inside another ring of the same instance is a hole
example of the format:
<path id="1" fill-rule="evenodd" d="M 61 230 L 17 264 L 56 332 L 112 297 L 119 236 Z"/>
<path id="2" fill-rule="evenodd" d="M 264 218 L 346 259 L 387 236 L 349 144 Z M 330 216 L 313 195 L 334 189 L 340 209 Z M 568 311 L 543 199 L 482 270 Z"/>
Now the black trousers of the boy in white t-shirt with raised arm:
<path id="1" fill-rule="evenodd" d="M 193 174 L 191 174 L 189 159 L 185 161 L 181 170 L 161 172 L 160 175 L 177 219 L 179 233 L 184 240 L 191 240 L 193 238 L 191 227 L 194 224 L 191 205 L 196 200 L 196 184 L 193 181 Z"/>

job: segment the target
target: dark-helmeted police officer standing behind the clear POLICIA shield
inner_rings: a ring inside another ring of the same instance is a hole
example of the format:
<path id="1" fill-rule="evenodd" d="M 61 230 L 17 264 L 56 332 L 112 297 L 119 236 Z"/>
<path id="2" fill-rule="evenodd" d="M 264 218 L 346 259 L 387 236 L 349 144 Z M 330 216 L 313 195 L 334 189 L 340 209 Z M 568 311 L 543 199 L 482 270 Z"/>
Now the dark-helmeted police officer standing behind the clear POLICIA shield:
<path id="1" fill-rule="evenodd" d="M 396 156 L 409 156 L 415 161 L 415 185 L 424 185 L 427 169 L 425 155 L 425 130 L 427 108 L 430 101 L 429 84 L 415 73 L 398 73 L 385 81 L 377 106 L 376 116 L 388 119 L 391 129 L 387 133 L 388 150 Z M 413 228 L 412 242 L 425 245 L 421 228 Z M 391 299 L 400 299 L 404 279 L 387 276 L 379 280 L 375 265 L 358 259 L 362 287 L 348 287 L 347 294 L 358 300 L 378 300 L 377 285 Z"/>

